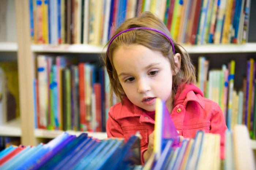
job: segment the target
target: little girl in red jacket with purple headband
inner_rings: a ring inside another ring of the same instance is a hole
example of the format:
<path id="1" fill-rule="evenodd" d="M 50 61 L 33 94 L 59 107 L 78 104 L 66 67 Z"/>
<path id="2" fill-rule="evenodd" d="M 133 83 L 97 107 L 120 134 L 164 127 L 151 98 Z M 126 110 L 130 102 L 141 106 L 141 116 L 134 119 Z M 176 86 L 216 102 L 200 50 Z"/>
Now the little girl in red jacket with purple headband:
<path id="1" fill-rule="evenodd" d="M 158 17 L 143 12 L 125 20 L 108 43 L 105 64 L 111 90 L 121 100 L 109 110 L 108 137 L 127 141 L 139 131 L 141 161 L 147 161 L 153 151 L 158 97 L 166 102 L 178 134 L 184 138 L 194 138 L 198 130 L 220 134 L 224 158 L 227 127 L 222 110 L 194 85 L 195 70 L 188 53 L 175 43 Z"/>

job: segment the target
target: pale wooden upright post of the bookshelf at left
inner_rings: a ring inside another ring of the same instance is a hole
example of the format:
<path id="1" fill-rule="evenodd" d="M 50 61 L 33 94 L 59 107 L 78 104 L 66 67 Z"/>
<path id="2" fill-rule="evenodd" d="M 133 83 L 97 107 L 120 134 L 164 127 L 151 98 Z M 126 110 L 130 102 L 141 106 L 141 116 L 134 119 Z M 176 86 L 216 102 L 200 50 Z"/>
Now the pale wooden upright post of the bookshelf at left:
<path id="1" fill-rule="evenodd" d="M 33 79 L 34 61 L 30 44 L 29 0 L 15 0 L 18 75 L 20 100 L 20 126 L 22 145 L 35 145 Z"/>

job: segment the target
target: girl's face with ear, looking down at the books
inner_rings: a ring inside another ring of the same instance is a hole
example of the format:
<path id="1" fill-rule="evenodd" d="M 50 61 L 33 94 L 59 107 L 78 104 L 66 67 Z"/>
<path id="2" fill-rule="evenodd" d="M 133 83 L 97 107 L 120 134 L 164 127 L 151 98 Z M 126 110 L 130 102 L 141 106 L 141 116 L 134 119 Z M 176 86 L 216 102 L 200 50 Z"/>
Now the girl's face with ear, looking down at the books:
<path id="1" fill-rule="evenodd" d="M 174 55 L 177 71 L 180 54 Z M 142 45 L 121 46 L 113 53 L 113 64 L 128 99 L 147 111 L 155 111 L 160 98 L 172 107 L 172 76 L 170 62 L 160 52 Z M 168 108 L 171 110 L 172 108 Z"/>

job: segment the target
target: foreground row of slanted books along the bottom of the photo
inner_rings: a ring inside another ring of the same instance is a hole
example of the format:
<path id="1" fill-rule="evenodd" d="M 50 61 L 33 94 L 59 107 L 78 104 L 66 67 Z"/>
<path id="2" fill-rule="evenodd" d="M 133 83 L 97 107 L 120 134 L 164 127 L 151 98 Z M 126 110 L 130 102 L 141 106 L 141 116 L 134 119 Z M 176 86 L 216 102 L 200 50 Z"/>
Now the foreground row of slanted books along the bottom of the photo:
<path id="1" fill-rule="evenodd" d="M 226 131 L 226 157 L 221 165 L 220 136 L 198 131 L 194 139 L 173 146 L 166 139 L 163 150 L 153 153 L 140 165 L 140 140 L 132 135 L 127 142 L 109 138 L 97 140 L 82 133 L 63 133 L 47 144 L 9 146 L 0 152 L 0 169 L 255 169 L 249 134 L 245 126 Z"/>

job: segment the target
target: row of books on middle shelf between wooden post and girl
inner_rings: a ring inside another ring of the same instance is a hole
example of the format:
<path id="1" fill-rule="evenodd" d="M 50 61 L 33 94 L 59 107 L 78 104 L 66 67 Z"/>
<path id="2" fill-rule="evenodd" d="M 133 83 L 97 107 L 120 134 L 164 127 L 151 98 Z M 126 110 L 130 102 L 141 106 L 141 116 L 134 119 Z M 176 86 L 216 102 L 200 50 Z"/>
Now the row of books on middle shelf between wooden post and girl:
<path id="1" fill-rule="evenodd" d="M 112 104 L 105 81 L 108 76 L 97 63 L 77 63 L 74 57 L 67 56 L 38 55 L 35 127 L 105 131 Z"/>

